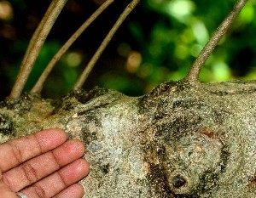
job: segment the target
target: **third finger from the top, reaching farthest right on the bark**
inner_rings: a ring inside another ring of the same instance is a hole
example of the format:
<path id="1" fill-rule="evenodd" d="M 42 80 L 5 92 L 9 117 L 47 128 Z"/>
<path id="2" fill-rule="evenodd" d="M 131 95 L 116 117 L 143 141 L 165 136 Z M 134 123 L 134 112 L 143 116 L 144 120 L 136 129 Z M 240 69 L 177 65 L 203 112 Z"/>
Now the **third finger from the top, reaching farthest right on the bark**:
<path id="1" fill-rule="evenodd" d="M 53 197 L 72 184 L 79 182 L 88 173 L 88 162 L 84 159 L 79 159 L 21 191 L 27 197 L 32 198 Z"/>

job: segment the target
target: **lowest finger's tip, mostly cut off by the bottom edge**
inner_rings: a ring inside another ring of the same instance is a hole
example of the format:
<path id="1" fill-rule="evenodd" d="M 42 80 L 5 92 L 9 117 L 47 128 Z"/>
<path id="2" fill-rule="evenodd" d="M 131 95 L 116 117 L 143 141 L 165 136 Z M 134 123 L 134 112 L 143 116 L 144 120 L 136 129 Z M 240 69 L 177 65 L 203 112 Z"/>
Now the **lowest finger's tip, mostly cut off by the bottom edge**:
<path id="1" fill-rule="evenodd" d="M 63 197 L 82 198 L 83 195 L 84 195 L 83 186 L 81 184 L 73 184 L 67 187 L 67 189 L 62 190 L 53 198 L 63 198 Z"/>

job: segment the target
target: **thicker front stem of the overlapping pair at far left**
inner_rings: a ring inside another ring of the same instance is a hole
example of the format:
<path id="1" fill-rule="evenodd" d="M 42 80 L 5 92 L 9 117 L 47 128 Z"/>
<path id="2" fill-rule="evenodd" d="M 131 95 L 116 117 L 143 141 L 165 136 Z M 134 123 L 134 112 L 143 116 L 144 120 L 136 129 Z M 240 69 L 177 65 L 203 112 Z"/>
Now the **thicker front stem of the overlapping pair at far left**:
<path id="1" fill-rule="evenodd" d="M 38 31 L 35 31 L 35 36 L 32 37 L 32 45 L 29 45 L 27 53 L 25 54 L 25 59 L 22 61 L 20 66 L 20 71 L 17 76 L 15 85 L 9 95 L 10 99 L 17 99 L 23 91 L 26 84 L 27 78 L 32 71 L 32 67 L 38 58 L 40 49 L 42 48 L 46 37 L 49 34 L 50 29 L 55 23 L 58 15 L 61 13 L 61 9 L 67 3 L 67 0 L 53 0 L 50 4 L 44 18 L 42 20 L 42 25 L 38 25 Z"/>

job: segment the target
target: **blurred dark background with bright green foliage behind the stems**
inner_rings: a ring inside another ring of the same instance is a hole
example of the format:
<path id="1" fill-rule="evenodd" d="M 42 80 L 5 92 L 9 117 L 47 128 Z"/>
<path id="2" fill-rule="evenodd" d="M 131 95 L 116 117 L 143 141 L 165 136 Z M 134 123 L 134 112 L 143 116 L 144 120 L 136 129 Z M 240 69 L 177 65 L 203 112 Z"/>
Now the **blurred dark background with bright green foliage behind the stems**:
<path id="1" fill-rule="evenodd" d="M 61 44 L 100 2 L 68 1 L 39 55 L 26 90 L 32 88 Z M 2 99 L 9 94 L 26 45 L 50 1 L 8 3 L 13 15 L 0 19 Z M 49 76 L 44 97 L 61 97 L 72 88 L 127 3 L 114 2 L 74 43 Z M 161 82 L 182 79 L 234 3 L 235 0 L 142 0 L 102 54 L 84 88 L 99 85 L 128 95 L 141 95 Z M 255 79 L 255 19 L 255 2 L 249 1 L 201 71 L 202 82 Z"/>

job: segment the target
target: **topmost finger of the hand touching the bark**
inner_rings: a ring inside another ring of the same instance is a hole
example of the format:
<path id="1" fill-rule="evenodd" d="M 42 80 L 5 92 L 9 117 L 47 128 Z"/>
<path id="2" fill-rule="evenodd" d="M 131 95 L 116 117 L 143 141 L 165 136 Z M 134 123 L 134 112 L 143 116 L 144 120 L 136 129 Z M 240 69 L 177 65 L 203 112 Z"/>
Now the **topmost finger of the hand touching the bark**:
<path id="1" fill-rule="evenodd" d="M 66 140 L 66 133 L 55 128 L 0 144 L 0 170 L 6 172 L 34 156 L 54 149 Z"/>

